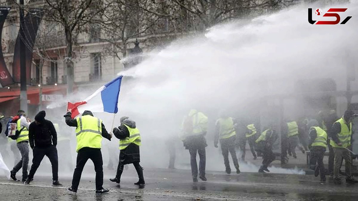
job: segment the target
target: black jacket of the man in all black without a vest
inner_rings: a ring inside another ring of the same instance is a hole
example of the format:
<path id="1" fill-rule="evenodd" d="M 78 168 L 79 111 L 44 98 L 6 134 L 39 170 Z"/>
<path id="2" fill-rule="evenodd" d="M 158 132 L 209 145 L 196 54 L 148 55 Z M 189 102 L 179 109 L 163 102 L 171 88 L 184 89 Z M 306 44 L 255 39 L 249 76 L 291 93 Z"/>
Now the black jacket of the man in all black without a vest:
<path id="1" fill-rule="evenodd" d="M 57 133 L 52 122 L 44 120 L 41 124 L 36 125 L 35 122 L 29 126 L 29 142 L 30 147 L 45 148 L 52 144 L 57 145 Z"/>

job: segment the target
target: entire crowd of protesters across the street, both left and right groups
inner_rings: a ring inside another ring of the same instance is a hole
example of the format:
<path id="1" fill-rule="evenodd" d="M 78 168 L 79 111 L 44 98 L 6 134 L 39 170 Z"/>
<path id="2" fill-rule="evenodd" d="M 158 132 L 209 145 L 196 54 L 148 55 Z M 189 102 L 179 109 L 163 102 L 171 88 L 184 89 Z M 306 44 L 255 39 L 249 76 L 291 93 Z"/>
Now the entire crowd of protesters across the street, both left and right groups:
<path id="1" fill-rule="evenodd" d="M 16 161 L 14 168 L 10 172 L 10 177 L 14 181 L 16 173 L 22 168 L 21 181 L 29 185 L 33 181 L 34 175 L 40 166 L 44 156 L 49 158 L 52 166 L 52 185 L 62 186 L 58 178 L 59 157 L 57 144 L 63 136 L 58 136 L 59 126 L 48 119 L 45 119 L 45 111 L 40 111 L 31 121 L 26 117 L 25 111 L 19 110 L 17 115 L 11 117 L 6 124 L 2 138 L 6 136 L 11 143 L 11 150 L 20 153 L 20 158 Z M 1 118 L 4 118 L 0 115 Z M 109 192 L 103 188 L 103 159 L 101 152 L 102 138 L 111 141 L 112 136 L 119 139 L 118 148 L 120 150 L 117 172 L 110 181 L 120 185 L 121 175 L 125 165 L 133 164 L 137 171 L 139 180 L 135 185 L 143 187 L 145 185 L 143 168 L 140 165 L 140 146 L 141 135 L 136 127 L 136 122 L 129 117 L 122 117 L 120 125 L 108 133 L 102 120 L 94 117 L 91 111 L 84 111 L 82 115 L 73 117 L 71 112 L 64 115 L 65 122 L 70 127 L 75 127 L 77 139 L 76 168 L 73 172 L 72 185 L 69 191 L 76 193 L 81 179 L 83 168 L 90 159 L 95 166 L 96 172 L 96 193 L 102 194 Z M 277 132 L 277 124 L 270 123 L 257 126 L 255 123 L 244 123 L 228 116 L 227 112 L 221 112 L 215 123 L 214 144 L 218 148 L 220 144 L 224 167 L 227 174 L 231 174 L 229 164 L 229 154 L 231 155 L 236 173 L 240 174 L 239 161 L 245 160 L 246 142 L 250 146 L 253 159 L 262 157 L 262 165 L 258 172 L 270 172 L 270 163 L 277 158 L 281 163 L 287 162 L 287 154 L 296 158 L 296 147 L 305 153 L 309 151 L 310 165 L 315 170 L 315 176 L 320 175 L 320 182 L 326 182 L 326 175 L 332 175 L 335 184 L 341 184 L 340 168 L 342 161 L 345 160 L 345 173 L 347 183 L 358 183 L 352 176 L 352 119 L 354 113 L 350 110 L 345 111 L 342 118 L 335 115 L 335 111 L 320 112 L 316 118 L 305 118 L 301 121 L 287 119 L 281 126 L 281 133 Z M 3 121 L 4 122 L 4 121 Z M 11 129 L 11 124 L 16 127 Z M 3 125 L 0 124 L 0 132 Z M 205 177 L 206 152 L 208 146 L 206 134 L 208 130 L 208 117 L 195 109 L 191 109 L 184 116 L 181 128 L 180 139 L 185 149 L 189 150 L 190 165 L 193 182 L 200 180 L 207 181 Z M 5 138 L 6 138 L 5 137 Z M 281 139 L 281 140 L 279 140 Z M 66 141 L 63 141 L 66 140 Z M 63 138 L 61 143 L 69 143 L 68 139 Z M 170 144 L 170 143 L 169 143 Z M 274 146 L 281 148 L 281 152 L 274 152 Z M 17 150 L 14 149 L 14 145 Z M 29 147 L 33 152 L 31 169 L 28 173 Z M 236 149 L 241 150 L 241 158 L 237 158 Z M 328 170 L 325 169 L 323 158 L 326 149 L 329 150 Z M 1 151 L 1 150 L 0 150 Z M 197 164 L 197 154 L 199 155 L 199 167 Z M 174 168 L 175 151 L 170 152 L 169 168 Z M 174 157 L 173 157 L 174 155 Z M 61 160 L 60 160 L 61 162 Z"/>

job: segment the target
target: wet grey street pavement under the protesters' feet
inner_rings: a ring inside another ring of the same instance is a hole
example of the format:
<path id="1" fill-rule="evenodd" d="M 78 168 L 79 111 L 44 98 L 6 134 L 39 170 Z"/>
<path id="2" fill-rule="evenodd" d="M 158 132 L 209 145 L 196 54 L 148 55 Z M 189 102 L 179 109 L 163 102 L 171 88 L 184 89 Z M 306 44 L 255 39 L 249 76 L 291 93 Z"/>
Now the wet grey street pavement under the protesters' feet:
<path id="1" fill-rule="evenodd" d="M 66 188 L 71 175 L 60 173 L 64 187 L 52 187 L 50 173 L 37 173 L 31 185 L 25 186 L 1 178 L 0 197 L 5 200 L 358 200 L 358 185 L 320 185 L 319 177 L 274 173 L 246 173 L 226 175 L 207 172 L 207 182 L 193 183 L 189 170 L 145 169 L 146 186 L 139 189 L 136 172 L 125 170 L 121 187 L 108 180 L 112 175 L 105 170 L 103 187 L 111 191 L 95 195 L 94 172 L 83 173 L 77 195 Z"/>

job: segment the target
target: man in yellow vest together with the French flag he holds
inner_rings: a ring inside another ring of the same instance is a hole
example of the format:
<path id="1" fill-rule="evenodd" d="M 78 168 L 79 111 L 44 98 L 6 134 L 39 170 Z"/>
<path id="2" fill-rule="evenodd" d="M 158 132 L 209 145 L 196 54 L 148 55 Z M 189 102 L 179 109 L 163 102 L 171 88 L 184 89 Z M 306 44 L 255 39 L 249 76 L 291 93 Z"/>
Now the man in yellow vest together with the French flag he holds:
<path id="1" fill-rule="evenodd" d="M 113 113 L 118 112 L 118 96 L 121 87 L 122 76 L 117 77 L 111 82 L 103 85 L 97 89 L 95 93 L 90 95 L 82 102 L 70 103 L 68 102 L 67 113 L 64 115 L 66 124 L 68 126 L 76 127 L 77 138 L 77 165 L 73 172 L 72 186 L 68 188 L 69 191 L 77 193 L 79 180 L 83 167 L 88 159 L 93 161 L 96 171 L 96 194 L 103 194 L 109 192 L 108 189 L 103 188 L 103 160 L 101 153 L 102 137 L 111 140 L 112 135 L 108 134 L 102 120 L 93 116 L 91 111 L 84 111 L 82 116 L 79 115 L 78 108 L 81 105 L 87 104 L 89 100 L 101 93 L 102 112 Z M 99 112 L 99 111 L 98 111 Z M 114 117 L 112 128 L 114 124 Z"/>

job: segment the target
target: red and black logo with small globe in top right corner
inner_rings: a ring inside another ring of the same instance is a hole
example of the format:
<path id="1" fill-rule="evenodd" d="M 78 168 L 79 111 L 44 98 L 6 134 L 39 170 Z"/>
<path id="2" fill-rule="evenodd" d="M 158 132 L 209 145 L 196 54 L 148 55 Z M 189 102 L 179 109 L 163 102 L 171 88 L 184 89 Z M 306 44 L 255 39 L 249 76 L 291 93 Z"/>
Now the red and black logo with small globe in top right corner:
<path id="1" fill-rule="evenodd" d="M 330 8 L 327 13 L 325 13 L 323 15 L 323 17 L 335 17 L 336 20 L 335 21 L 317 21 L 316 20 L 312 20 L 312 9 L 309 8 L 308 9 L 308 22 L 310 24 L 338 24 L 340 22 L 340 16 L 338 13 L 335 12 L 344 12 L 346 11 L 348 8 Z M 315 10 L 315 14 L 316 15 L 322 15 L 322 11 L 320 8 Z M 352 16 L 348 16 L 347 18 L 345 18 L 340 24 L 345 24 L 347 23 L 347 21 L 352 18 Z"/>

